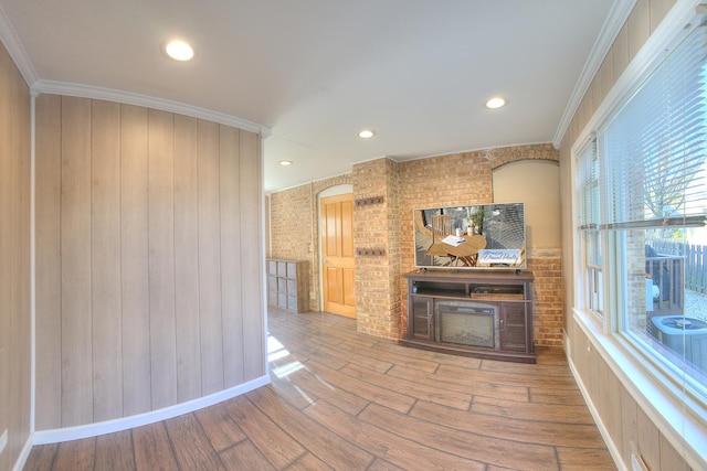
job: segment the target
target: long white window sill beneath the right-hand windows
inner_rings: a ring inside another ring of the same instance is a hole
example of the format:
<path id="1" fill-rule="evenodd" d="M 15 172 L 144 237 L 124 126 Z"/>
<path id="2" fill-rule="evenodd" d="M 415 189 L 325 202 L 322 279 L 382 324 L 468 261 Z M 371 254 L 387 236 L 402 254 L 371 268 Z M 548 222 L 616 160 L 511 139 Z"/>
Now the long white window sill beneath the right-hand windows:
<path id="1" fill-rule="evenodd" d="M 593 315 L 573 319 L 602 360 L 661 433 L 693 469 L 707 469 L 707 408 L 695 400 L 620 335 L 606 335 Z M 591 381 L 593 378 L 582 378 Z"/>

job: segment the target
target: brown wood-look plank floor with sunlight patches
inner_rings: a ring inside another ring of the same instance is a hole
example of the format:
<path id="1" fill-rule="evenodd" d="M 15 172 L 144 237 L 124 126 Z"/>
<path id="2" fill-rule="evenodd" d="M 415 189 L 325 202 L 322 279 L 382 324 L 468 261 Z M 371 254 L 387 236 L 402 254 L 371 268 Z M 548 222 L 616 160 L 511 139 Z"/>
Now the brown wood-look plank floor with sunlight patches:
<path id="1" fill-rule="evenodd" d="M 271 308 L 272 384 L 169 420 L 34 447 L 25 470 L 614 470 L 563 352 L 451 356 Z"/>

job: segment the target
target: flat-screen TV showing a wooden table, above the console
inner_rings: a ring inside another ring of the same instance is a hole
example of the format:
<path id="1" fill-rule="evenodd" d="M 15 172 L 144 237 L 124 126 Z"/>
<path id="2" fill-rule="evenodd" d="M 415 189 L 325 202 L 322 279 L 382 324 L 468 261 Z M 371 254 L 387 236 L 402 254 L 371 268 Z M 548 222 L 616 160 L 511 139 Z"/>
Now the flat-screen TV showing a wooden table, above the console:
<path id="1" fill-rule="evenodd" d="M 413 210 L 415 267 L 525 269 L 524 203 Z"/>

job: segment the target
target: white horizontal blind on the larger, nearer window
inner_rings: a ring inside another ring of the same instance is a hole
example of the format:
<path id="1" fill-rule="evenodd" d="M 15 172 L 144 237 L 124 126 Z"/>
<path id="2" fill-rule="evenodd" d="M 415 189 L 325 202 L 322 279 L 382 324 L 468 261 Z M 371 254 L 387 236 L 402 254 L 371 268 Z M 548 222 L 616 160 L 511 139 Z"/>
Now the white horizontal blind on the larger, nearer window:
<path id="1" fill-rule="evenodd" d="M 705 224 L 706 63 L 701 25 L 600 129 L 601 228 Z"/>

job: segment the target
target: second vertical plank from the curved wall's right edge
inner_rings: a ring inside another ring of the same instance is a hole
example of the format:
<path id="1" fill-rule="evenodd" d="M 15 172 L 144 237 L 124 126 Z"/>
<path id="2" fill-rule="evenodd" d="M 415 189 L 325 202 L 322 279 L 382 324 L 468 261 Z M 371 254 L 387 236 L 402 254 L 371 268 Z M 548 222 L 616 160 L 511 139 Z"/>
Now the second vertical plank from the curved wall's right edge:
<path id="1" fill-rule="evenodd" d="M 223 318 L 224 386 L 243 383 L 243 320 L 241 311 L 241 200 L 239 192 L 239 130 L 221 126 L 221 309 Z"/>

